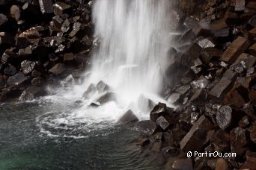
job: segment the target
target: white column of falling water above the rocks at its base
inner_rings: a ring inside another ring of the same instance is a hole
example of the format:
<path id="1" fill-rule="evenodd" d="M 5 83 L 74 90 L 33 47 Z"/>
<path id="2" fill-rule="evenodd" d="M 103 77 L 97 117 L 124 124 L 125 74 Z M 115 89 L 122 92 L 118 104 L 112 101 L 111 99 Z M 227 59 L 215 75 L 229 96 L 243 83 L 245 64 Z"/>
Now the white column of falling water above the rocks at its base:
<path id="1" fill-rule="evenodd" d="M 168 0 L 96 0 L 91 83 L 104 81 L 125 101 L 141 93 L 157 94 L 162 87 L 170 44 Z"/>

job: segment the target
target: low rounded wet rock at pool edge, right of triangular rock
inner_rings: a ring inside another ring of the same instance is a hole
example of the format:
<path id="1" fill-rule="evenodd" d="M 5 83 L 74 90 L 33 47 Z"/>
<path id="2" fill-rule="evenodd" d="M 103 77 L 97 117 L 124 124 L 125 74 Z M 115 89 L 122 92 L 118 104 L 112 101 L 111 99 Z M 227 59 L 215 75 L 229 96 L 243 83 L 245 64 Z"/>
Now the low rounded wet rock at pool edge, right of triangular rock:
<path id="1" fill-rule="evenodd" d="M 156 131 L 156 123 L 151 120 L 138 122 L 137 128 L 147 136 L 151 136 Z"/>

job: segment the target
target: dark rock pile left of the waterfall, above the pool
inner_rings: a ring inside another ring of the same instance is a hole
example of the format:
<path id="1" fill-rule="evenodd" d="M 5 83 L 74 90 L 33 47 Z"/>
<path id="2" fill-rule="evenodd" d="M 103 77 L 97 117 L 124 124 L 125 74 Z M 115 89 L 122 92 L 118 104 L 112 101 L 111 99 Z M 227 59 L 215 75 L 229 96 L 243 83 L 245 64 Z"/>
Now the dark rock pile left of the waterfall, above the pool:
<path id="1" fill-rule="evenodd" d="M 46 95 L 88 66 L 93 46 L 91 1 L 0 2 L 0 101 Z M 58 82 L 59 84 L 59 82 Z"/>

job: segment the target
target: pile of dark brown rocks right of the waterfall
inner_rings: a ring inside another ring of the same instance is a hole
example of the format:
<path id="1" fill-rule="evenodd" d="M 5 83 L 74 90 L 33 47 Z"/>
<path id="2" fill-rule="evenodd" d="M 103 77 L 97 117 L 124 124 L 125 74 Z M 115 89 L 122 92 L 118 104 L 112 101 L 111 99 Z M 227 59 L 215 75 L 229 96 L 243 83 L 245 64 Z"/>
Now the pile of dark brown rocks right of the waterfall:
<path id="1" fill-rule="evenodd" d="M 155 151 L 154 143 L 160 141 L 165 156 L 166 147 L 178 152 L 179 160 L 168 165 L 173 169 L 255 169 L 256 3 L 172 3 L 183 34 L 174 37 L 177 48 L 169 52 L 163 94 L 178 108 L 159 103 L 150 121 L 138 122 L 146 136 L 141 145 Z M 233 152 L 236 157 L 188 159 L 188 151 Z"/>

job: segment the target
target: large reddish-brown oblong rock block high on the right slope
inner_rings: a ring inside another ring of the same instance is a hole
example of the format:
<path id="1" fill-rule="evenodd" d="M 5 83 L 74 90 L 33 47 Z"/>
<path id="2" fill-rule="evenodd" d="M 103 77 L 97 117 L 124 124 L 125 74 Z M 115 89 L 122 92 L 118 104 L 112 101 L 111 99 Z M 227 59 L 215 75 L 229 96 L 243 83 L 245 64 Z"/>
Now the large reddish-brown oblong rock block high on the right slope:
<path id="1" fill-rule="evenodd" d="M 234 63 L 237 57 L 240 56 L 249 47 L 249 41 L 244 37 L 237 37 L 228 49 L 222 54 L 220 60 L 228 63 Z"/>

